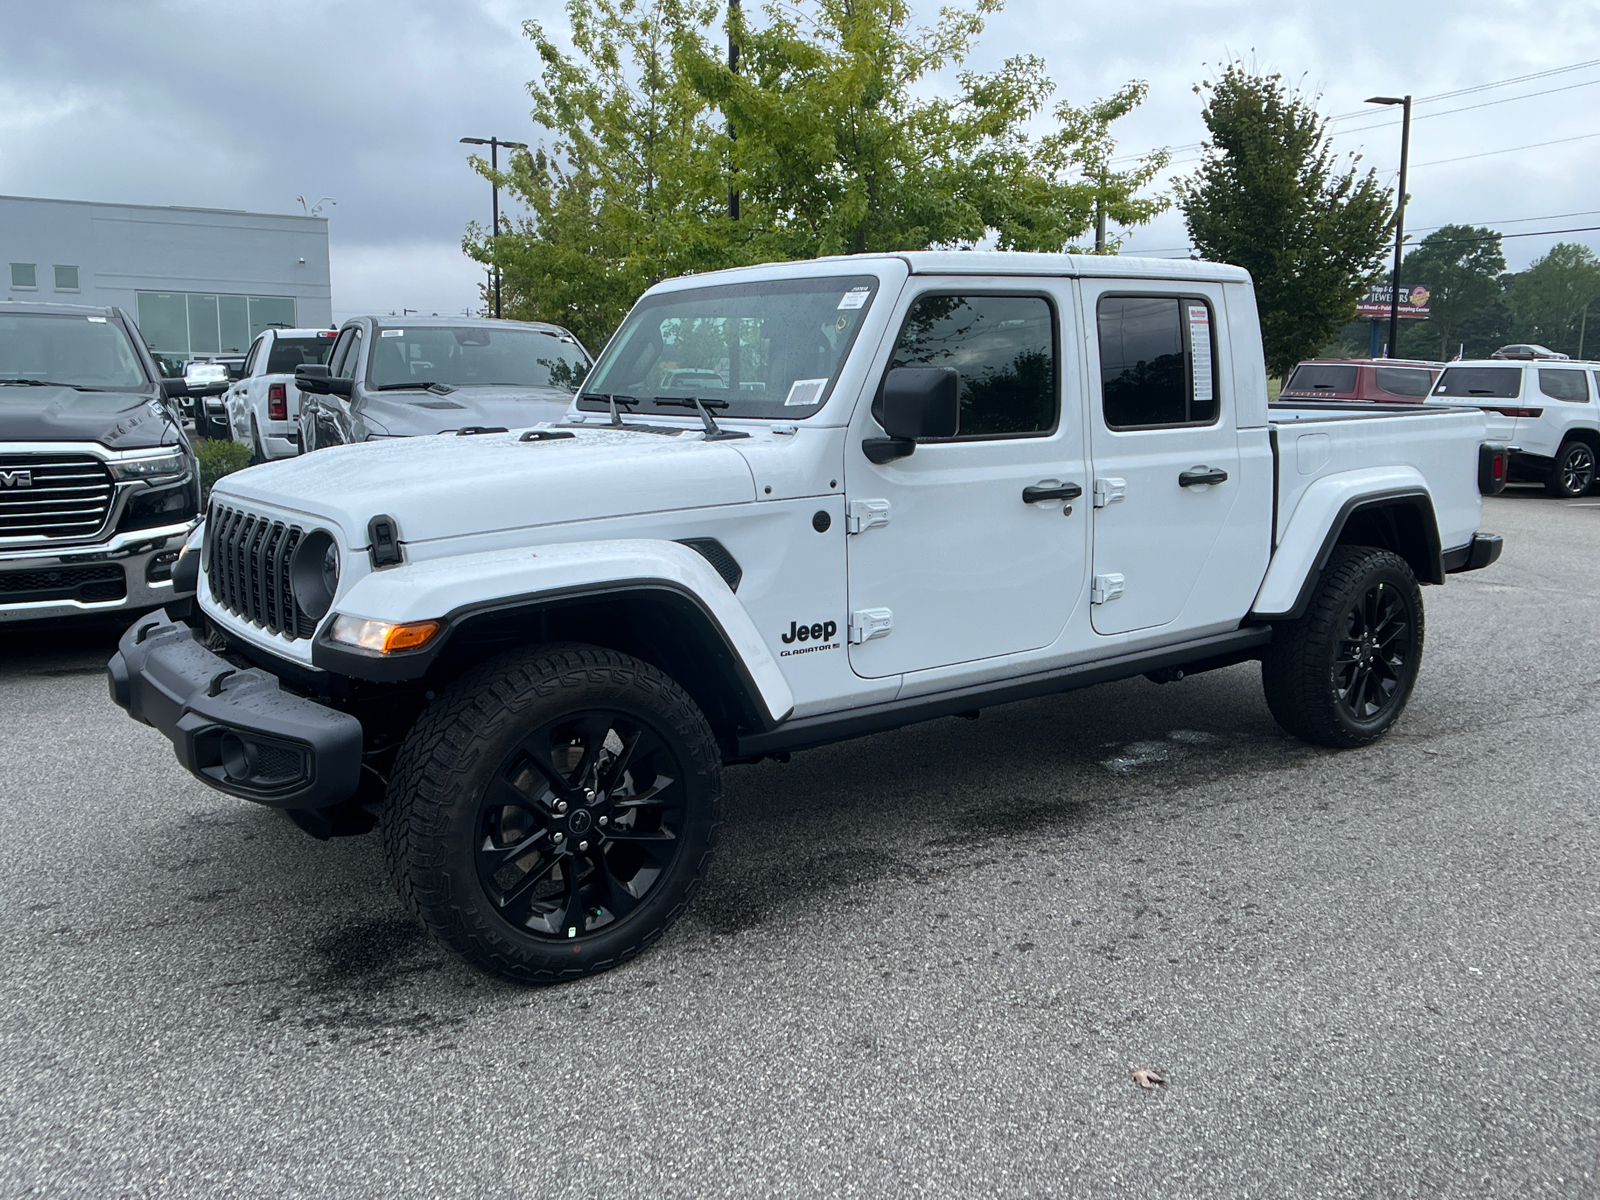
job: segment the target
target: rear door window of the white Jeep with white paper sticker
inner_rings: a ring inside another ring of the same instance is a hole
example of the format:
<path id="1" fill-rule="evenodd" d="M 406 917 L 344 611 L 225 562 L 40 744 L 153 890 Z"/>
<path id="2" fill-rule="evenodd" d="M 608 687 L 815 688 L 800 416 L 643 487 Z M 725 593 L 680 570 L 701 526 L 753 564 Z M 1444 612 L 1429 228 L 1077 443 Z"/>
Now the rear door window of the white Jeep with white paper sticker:
<path id="1" fill-rule="evenodd" d="M 1210 301 L 1102 296 L 1098 323 L 1101 406 L 1110 429 L 1216 421 L 1216 322 Z"/>

